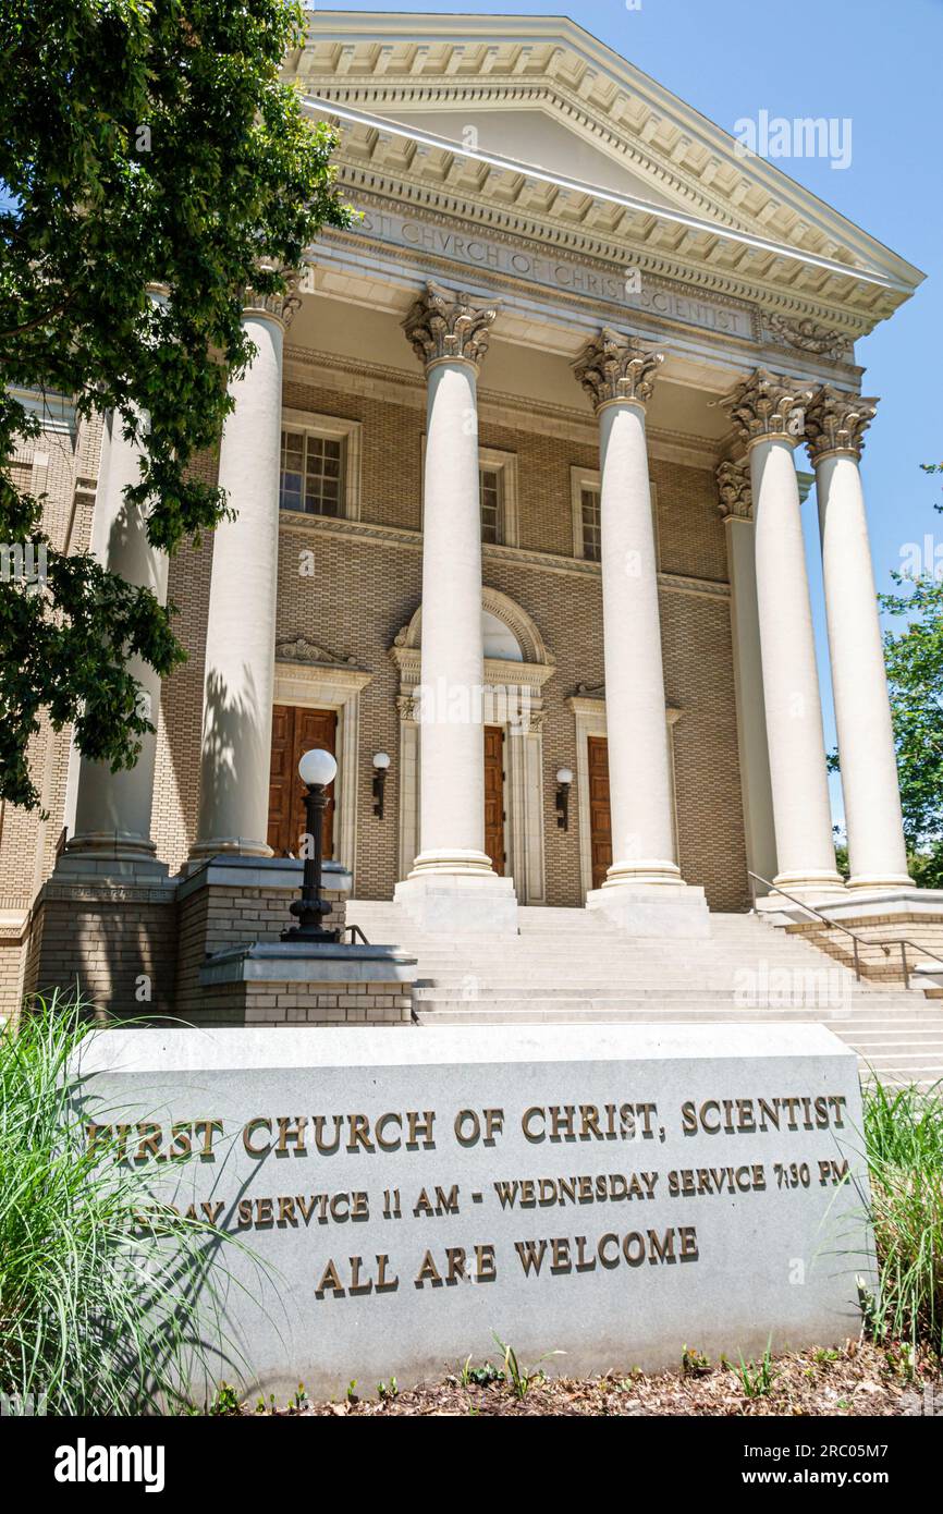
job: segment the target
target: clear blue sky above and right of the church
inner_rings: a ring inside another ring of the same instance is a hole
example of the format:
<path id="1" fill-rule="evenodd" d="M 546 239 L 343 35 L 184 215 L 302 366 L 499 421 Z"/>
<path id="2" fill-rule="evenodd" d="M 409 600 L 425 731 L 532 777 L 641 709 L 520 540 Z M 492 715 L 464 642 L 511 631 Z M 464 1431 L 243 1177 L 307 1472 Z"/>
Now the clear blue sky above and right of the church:
<path id="1" fill-rule="evenodd" d="M 336 3 L 336 0 L 335 0 Z M 858 344 L 864 392 L 881 397 L 863 472 L 878 587 L 890 587 L 908 542 L 931 533 L 943 557 L 940 480 L 919 471 L 943 459 L 943 0 L 589 0 L 568 11 L 516 0 L 495 5 L 348 5 L 351 11 L 416 9 L 571 15 L 733 133 L 740 117 L 839 117 L 852 121 L 848 168 L 780 160 L 799 183 L 916 263 L 928 277 L 913 300 Z M 935 362 L 934 362 L 935 359 Z M 807 466 L 801 454 L 801 466 Z M 834 743 L 814 494 L 805 512 L 813 609 Z M 836 819 L 840 781 L 833 780 Z"/>

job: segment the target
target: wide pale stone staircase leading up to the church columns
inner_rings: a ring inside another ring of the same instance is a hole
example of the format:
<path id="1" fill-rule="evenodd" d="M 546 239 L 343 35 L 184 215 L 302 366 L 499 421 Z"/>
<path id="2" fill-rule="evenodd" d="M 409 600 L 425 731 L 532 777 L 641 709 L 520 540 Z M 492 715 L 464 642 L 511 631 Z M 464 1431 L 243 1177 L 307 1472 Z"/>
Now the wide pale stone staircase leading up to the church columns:
<path id="1" fill-rule="evenodd" d="M 711 914 L 708 940 L 622 936 L 586 910 L 519 908 L 516 937 L 422 934 L 395 904 L 353 899 L 348 924 L 418 958 L 419 1025 L 817 1020 L 890 1084 L 943 1079 L 943 1002 L 858 983 L 801 936 Z"/>

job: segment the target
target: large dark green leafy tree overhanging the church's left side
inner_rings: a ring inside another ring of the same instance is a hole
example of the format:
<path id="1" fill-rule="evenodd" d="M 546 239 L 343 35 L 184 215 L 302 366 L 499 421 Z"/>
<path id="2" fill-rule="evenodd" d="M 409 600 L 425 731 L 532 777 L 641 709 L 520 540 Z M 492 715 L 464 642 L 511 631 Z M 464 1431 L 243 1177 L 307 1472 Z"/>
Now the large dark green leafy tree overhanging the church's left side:
<path id="1" fill-rule="evenodd" d="M 127 500 L 154 547 L 173 553 L 223 518 L 191 463 L 218 442 L 227 378 L 254 356 L 242 291 L 283 292 L 279 268 L 298 266 L 322 224 L 353 220 L 335 135 L 279 79 L 303 35 L 288 0 L 0 8 L 0 799 L 38 802 L 27 743 L 44 710 L 74 722 L 86 757 L 133 766 L 151 725 L 127 663 L 167 675 L 183 657 L 173 607 L 44 534 L 42 500 L 12 469 L 38 431 L 18 391 L 68 395 L 82 418 L 115 410 L 142 447 Z M 45 551 L 39 581 L 9 581 L 29 544 Z"/>

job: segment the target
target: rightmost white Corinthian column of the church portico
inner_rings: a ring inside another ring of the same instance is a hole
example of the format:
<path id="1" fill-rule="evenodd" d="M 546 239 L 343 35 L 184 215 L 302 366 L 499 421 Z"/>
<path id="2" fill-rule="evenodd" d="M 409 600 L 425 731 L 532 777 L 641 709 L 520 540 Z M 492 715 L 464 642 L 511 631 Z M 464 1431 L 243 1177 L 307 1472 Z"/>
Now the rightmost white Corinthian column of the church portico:
<path id="1" fill-rule="evenodd" d="M 805 413 L 819 500 L 849 889 L 913 886 L 858 469 L 864 430 L 876 404 L 825 385 Z"/>

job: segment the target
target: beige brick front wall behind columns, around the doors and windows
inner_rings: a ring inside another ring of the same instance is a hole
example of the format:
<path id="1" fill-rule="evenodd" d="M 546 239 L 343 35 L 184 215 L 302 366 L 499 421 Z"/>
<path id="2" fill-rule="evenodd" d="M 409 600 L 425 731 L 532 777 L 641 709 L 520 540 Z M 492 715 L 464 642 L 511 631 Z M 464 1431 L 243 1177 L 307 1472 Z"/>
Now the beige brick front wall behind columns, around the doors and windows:
<path id="1" fill-rule="evenodd" d="M 286 388 L 286 403 L 312 413 L 362 419 L 362 519 L 418 530 L 422 412 L 298 383 Z M 481 427 L 480 442 L 518 456 L 521 547 L 572 557 L 571 466 L 595 466 L 595 448 L 493 425 Z M 655 460 L 652 478 L 661 569 L 724 583 L 727 550 L 713 474 Z M 300 572 L 303 553 L 313 553 L 313 577 Z M 580 684 L 595 687 L 604 678 L 599 577 L 552 572 L 486 553 L 484 583 L 527 610 L 557 663 L 543 690 L 548 904 L 578 905 L 578 828 L 572 819 L 566 833 L 556 824 L 554 774 L 562 765 L 577 768 L 575 725 L 566 698 Z M 419 598 L 418 542 L 410 547 L 330 537 L 312 533 L 304 522 L 283 521 L 277 634 L 306 634 L 374 674 L 360 704 L 354 892 L 362 898 L 389 898 L 398 875 L 397 772 L 386 786 L 386 816 L 380 822 L 371 808 L 369 759 L 386 749 L 397 760 L 400 683 L 389 648 Z M 690 883 L 705 887 L 713 908 L 737 910 L 745 907 L 748 889 L 730 603 L 663 589 L 661 625 L 668 699 L 684 712 L 675 727 L 681 866 Z"/>

